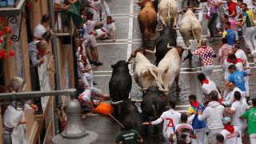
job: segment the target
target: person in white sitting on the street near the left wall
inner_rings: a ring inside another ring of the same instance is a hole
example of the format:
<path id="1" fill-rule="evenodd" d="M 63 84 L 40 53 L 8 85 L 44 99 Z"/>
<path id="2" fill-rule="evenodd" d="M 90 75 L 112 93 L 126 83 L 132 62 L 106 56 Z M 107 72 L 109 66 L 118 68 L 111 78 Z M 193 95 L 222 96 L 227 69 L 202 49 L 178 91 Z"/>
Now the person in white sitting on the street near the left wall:
<path id="1" fill-rule="evenodd" d="M 113 42 L 115 42 L 115 25 L 114 20 L 111 16 L 106 17 L 106 21 L 102 22 L 103 26 L 101 29 L 95 30 L 96 37 L 98 39 L 102 38 L 112 38 Z"/>

